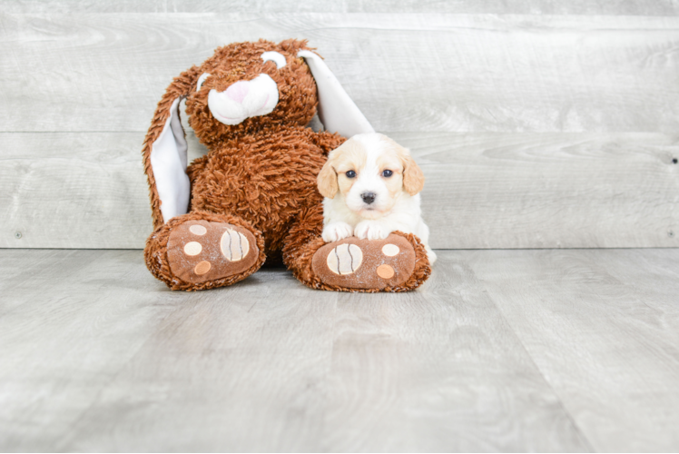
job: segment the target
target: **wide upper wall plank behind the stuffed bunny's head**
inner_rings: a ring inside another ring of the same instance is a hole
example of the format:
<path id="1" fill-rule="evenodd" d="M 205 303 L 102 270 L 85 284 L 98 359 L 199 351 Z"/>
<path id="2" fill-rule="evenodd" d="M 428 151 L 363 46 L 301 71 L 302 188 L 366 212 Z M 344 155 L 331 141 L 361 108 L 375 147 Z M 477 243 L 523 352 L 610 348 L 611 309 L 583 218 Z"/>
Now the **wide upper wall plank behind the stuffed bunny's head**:
<path id="1" fill-rule="evenodd" d="M 379 131 L 679 126 L 674 16 L 4 13 L 0 30 L 5 132 L 146 131 L 213 48 L 289 37 L 319 48 Z"/>

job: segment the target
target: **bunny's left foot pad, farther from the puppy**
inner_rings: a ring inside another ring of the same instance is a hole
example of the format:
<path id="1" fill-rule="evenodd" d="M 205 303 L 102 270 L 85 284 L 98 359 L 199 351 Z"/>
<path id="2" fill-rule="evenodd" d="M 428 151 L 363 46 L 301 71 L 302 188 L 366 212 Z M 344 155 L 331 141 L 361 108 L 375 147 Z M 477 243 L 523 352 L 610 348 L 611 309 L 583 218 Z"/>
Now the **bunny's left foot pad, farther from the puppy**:
<path id="1" fill-rule="evenodd" d="M 260 255 L 254 235 L 225 222 L 187 221 L 172 228 L 167 258 L 182 281 L 199 283 L 248 270 Z"/>

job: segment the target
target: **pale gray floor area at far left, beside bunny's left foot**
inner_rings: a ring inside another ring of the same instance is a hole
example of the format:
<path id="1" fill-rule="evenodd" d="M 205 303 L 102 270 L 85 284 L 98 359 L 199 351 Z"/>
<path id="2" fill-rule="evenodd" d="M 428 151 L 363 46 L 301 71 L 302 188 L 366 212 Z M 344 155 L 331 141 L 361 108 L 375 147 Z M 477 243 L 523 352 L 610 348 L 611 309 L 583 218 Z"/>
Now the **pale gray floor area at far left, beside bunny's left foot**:
<path id="1" fill-rule="evenodd" d="M 179 295 L 154 287 L 141 252 L 5 250 L 0 257 L 3 271 L 20 271 L 0 280 L 0 446 L 55 451 L 147 341 L 144 327 L 162 321 Z M 200 297 L 182 301 L 191 307 Z M 28 434 L 31 426 L 41 429 Z"/>

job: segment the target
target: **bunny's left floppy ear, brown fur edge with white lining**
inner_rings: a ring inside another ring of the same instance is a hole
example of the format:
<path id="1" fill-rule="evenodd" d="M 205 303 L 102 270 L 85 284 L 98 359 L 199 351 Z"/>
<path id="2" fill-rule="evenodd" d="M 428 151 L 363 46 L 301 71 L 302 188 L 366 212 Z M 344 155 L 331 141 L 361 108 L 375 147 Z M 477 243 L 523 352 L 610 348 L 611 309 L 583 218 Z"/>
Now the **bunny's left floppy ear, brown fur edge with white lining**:
<path id="1" fill-rule="evenodd" d="M 197 70 L 192 67 L 170 84 L 158 103 L 144 140 L 143 164 L 149 182 L 154 229 L 189 210 L 188 146 L 179 118 L 179 104 L 191 92 Z"/>

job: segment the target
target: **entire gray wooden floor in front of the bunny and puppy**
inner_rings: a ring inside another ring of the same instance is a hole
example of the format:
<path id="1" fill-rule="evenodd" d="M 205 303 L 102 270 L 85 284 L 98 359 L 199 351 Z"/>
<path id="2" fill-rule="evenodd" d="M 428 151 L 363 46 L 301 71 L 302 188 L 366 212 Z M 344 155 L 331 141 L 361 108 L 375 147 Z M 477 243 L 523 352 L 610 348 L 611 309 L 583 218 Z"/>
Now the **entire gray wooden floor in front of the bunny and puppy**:
<path id="1" fill-rule="evenodd" d="M 442 251 L 408 294 L 0 250 L 2 451 L 679 450 L 679 250 Z M 74 283 L 76 282 L 76 283 Z"/>

